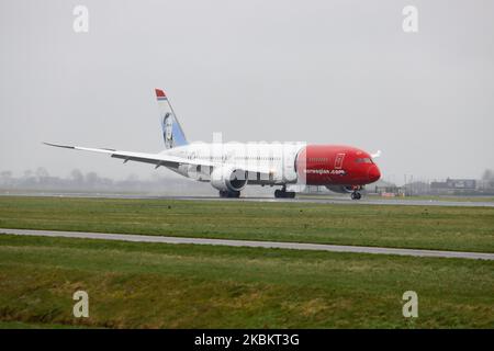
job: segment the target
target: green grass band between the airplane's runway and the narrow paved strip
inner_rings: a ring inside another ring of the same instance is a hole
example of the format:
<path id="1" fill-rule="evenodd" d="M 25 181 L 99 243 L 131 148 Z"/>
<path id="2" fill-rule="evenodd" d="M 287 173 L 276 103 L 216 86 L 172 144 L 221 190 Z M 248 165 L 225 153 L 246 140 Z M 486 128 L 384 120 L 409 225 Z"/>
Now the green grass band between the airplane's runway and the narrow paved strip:
<path id="1" fill-rule="evenodd" d="M 0 197 L 0 227 L 494 252 L 494 208 Z"/>

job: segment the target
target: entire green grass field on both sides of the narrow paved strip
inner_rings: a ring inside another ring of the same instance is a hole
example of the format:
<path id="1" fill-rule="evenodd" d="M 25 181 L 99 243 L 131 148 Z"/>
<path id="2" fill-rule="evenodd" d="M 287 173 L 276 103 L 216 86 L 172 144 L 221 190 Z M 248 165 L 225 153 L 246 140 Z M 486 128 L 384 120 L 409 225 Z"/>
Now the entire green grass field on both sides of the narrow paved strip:
<path id="1" fill-rule="evenodd" d="M 0 197 L 0 227 L 494 251 L 478 207 Z M 0 235 L 0 328 L 66 327 L 494 328 L 494 262 Z"/>

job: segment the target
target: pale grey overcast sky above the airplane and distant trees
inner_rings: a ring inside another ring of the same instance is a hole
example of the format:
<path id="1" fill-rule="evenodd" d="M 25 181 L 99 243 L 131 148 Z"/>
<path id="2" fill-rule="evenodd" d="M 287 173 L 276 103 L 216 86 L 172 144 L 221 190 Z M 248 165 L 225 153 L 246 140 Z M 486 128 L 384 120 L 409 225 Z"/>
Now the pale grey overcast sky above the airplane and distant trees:
<path id="1" fill-rule="evenodd" d="M 2 0 L 0 27 L 0 170 L 167 172 L 41 144 L 158 151 L 158 87 L 190 140 L 381 149 L 396 182 L 494 168 L 492 0 Z"/>

